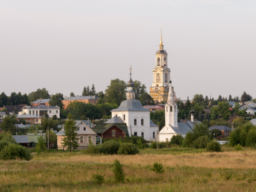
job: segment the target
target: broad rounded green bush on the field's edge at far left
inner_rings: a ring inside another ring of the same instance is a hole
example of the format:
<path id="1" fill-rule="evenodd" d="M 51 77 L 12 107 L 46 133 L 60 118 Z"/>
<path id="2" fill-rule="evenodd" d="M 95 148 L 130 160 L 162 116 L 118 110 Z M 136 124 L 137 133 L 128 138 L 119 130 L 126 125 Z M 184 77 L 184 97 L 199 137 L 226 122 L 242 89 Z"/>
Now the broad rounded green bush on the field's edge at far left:
<path id="1" fill-rule="evenodd" d="M 0 152 L 0 158 L 3 160 L 16 159 L 17 157 L 24 160 L 32 158 L 31 153 L 21 145 L 9 144 Z"/>

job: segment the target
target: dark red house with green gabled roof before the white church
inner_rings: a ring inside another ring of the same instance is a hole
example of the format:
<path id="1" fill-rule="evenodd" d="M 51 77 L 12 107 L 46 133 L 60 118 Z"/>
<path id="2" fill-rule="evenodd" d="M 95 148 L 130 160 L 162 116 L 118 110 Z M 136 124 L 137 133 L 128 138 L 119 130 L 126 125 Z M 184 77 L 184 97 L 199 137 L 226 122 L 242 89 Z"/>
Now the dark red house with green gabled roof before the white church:
<path id="1" fill-rule="evenodd" d="M 92 130 L 102 139 L 129 136 L 127 125 L 119 116 L 114 116 L 105 123 L 97 123 L 96 128 Z"/>

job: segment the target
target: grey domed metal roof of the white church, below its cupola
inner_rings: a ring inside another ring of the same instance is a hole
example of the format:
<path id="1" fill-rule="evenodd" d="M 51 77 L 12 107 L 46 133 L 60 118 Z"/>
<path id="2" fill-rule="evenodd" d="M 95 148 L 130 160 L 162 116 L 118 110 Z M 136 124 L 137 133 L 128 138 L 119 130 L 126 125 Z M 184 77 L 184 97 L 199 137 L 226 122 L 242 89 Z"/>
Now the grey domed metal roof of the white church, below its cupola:
<path id="1" fill-rule="evenodd" d="M 111 110 L 111 112 L 115 111 L 148 111 L 149 109 L 143 108 L 141 102 L 136 99 L 128 99 L 121 103 L 119 108 Z"/>

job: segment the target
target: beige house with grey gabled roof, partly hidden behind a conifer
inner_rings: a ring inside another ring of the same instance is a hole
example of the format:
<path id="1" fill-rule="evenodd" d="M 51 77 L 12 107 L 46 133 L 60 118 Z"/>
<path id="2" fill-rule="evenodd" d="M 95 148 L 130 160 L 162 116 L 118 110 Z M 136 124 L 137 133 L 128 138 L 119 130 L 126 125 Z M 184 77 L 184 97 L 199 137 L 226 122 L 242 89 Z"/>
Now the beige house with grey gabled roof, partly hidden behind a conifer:
<path id="1" fill-rule="evenodd" d="M 75 149 L 86 149 L 90 143 L 93 143 L 93 145 L 101 144 L 101 137 L 92 130 L 90 120 L 76 120 L 76 127 L 78 127 L 76 138 L 78 139 L 77 142 L 79 147 Z M 62 139 L 65 137 L 64 125 L 56 135 L 58 149 L 66 150 L 67 147 L 64 147 L 63 144 L 61 144 L 63 143 Z"/>

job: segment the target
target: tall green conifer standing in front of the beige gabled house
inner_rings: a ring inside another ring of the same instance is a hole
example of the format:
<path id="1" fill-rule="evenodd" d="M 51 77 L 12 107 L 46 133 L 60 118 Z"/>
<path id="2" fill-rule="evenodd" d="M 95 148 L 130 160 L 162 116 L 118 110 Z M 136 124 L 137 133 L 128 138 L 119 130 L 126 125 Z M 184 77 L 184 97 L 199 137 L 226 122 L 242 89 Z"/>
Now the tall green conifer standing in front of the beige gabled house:
<path id="1" fill-rule="evenodd" d="M 67 147 L 67 150 L 70 150 L 71 148 L 78 147 L 78 142 L 76 140 L 79 140 L 76 138 L 77 135 L 77 127 L 76 127 L 76 122 L 73 119 L 73 116 L 69 113 L 67 115 L 67 120 L 65 121 L 64 124 L 64 138 L 62 139 L 64 147 Z"/>

